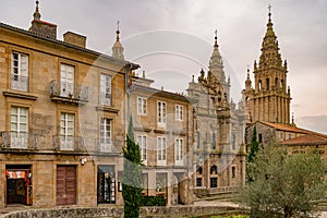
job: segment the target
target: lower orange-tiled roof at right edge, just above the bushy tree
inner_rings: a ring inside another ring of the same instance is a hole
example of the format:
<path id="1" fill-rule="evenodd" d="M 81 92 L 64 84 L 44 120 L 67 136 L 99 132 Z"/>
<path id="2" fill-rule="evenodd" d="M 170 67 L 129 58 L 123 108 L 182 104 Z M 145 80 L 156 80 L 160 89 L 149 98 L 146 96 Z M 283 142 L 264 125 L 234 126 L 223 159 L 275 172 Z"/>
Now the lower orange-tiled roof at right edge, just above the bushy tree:
<path id="1" fill-rule="evenodd" d="M 281 143 L 282 145 L 323 145 L 327 144 L 327 137 L 315 134 L 306 134 Z"/>

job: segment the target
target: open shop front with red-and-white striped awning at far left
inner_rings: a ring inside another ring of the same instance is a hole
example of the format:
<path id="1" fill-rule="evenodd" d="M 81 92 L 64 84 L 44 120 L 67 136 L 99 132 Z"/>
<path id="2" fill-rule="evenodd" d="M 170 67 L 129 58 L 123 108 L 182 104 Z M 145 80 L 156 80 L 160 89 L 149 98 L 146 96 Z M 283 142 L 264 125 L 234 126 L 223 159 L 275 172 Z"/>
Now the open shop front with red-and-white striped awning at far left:
<path id="1" fill-rule="evenodd" d="M 5 166 L 7 204 L 32 205 L 32 166 Z"/>

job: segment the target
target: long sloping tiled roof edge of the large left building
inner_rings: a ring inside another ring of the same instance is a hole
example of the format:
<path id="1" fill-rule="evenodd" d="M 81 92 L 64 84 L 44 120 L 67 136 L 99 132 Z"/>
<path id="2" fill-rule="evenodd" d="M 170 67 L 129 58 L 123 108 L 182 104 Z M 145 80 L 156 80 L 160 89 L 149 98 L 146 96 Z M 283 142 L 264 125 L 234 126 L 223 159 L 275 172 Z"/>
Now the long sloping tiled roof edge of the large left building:
<path id="1" fill-rule="evenodd" d="M 132 63 L 132 62 L 129 62 L 129 61 L 124 61 L 124 60 L 121 60 L 121 59 L 117 59 L 117 58 L 113 58 L 111 56 L 107 56 L 105 53 L 100 53 L 98 51 L 94 51 L 94 50 L 90 50 L 90 49 L 87 49 L 87 48 L 82 48 L 82 47 L 78 47 L 78 46 L 74 46 L 72 44 L 69 44 L 69 43 L 65 43 L 65 41 L 62 41 L 62 40 L 46 37 L 46 36 L 29 32 L 29 31 L 25 31 L 23 28 L 19 28 L 19 27 L 15 27 L 15 26 L 4 24 L 2 22 L 0 22 L 0 28 L 5 28 L 5 29 L 9 29 L 9 31 L 20 33 L 20 34 L 24 34 L 26 36 L 31 36 L 31 37 L 35 37 L 35 38 L 38 38 L 38 39 L 41 39 L 41 40 L 49 41 L 49 43 L 58 44 L 58 45 L 64 46 L 66 48 L 80 50 L 80 51 L 83 51 L 83 52 L 86 52 L 86 53 L 89 53 L 89 55 L 93 55 L 93 56 L 98 56 L 98 57 L 100 56 L 101 58 L 110 59 L 111 61 L 114 61 L 114 62 L 121 62 L 122 64 L 132 64 L 132 69 L 134 69 L 134 70 L 140 68 L 138 64 L 135 64 L 135 63 Z"/>

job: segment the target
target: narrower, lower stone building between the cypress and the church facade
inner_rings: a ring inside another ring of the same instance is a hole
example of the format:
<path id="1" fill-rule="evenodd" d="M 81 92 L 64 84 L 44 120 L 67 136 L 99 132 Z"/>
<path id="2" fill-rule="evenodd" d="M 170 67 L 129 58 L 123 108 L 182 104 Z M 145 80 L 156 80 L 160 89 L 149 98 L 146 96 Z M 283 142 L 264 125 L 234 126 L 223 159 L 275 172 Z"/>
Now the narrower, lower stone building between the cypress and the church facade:
<path id="1" fill-rule="evenodd" d="M 141 148 L 143 195 L 165 196 L 168 205 L 193 203 L 194 113 L 192 99 L 150 87 L 134 76 L 131 110 Z"/>

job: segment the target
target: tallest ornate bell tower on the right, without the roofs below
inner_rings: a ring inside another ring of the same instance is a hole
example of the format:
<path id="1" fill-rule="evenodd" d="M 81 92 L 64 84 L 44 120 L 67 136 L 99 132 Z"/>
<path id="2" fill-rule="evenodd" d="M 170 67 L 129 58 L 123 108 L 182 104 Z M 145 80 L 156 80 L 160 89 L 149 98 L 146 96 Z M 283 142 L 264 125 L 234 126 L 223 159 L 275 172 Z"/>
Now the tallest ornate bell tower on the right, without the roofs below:
<path id="1" fill-rule="evenodd" d="M 246 108 L 246 122 L 265 121 L 290 124 L 290 87 L 287 86 L 287 61 L 281 60 L 277 36 L 271 22 L 271 7 L 268 7 L 268 23 L 262 44 L 258 63 L 254 61 L 254 88 L 250 78 L 250 70 L 243 89 Z"/>

